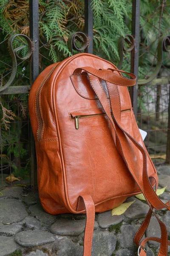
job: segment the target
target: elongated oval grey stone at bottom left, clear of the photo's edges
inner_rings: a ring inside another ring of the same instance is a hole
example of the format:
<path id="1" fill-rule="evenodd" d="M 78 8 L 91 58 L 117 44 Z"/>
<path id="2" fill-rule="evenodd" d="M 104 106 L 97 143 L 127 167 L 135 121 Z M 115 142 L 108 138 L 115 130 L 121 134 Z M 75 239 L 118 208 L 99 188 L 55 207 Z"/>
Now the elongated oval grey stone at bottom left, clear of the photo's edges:
<path id="1" fill-rule="evenodd" d="M 27 230 L 15 235 L 15 241 L 23 247 L 47 244 L 55 240 L 55 236 L 43 230 Z"/>

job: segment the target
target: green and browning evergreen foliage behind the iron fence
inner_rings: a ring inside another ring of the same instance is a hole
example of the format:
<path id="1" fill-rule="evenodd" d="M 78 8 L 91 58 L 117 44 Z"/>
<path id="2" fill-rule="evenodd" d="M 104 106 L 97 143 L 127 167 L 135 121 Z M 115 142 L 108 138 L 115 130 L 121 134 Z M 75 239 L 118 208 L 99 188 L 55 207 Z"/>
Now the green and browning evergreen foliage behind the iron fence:
<path id="1" fill-rule="evenodd" d="M 120 36 L 125 37 L 131 31 L 131 13 L 132 0 L 92 0 L 94 10 L 94 54 L 117 64 L 119 61 L 118 39 Z M 24 12 L 22 11 L 24 10 Z M 7 50 L 8 37 L 14 34 L 25 34 L 29 37 L 29 1 L 28 0 L 0 0 L 0 44 L 1 60 L 0 62 L 0 86 L 8 81 L 11 71 L 12 61 L 9 51 Z M 68 48 L 68 37 L 73 32 L 84 31 L 84 0 L 39 0 L 39 29 L 40 29 L 40 71 L 53 62 L 62 61 L 71 56 Z M 8 34 L 9 33 L 9 34 Z M 170 35 L 170 0 L 141 0 L 141 17 L 140 17 L 140 58 L 139 58 L 139 78 L 150 76 L 156 66 L 156 49 L 159 38 L 162 35 Z M 6 41 L 5 41 L 6 40 Z M 25 56 L 28 47 L 23 37 L 17 37 L 13 42 L 13 48 L 25 45 L 19 51 L 21 57 Z M 74 51 L 74 54 L 77 53 Z M 167 53 L 163 61 L 163 68 L 170 67 L 170 58 Z M 30 84 L 30 67 L 28 61 L 18 61 L 17 75 L 11 85 Z M 130 53 L 124 53 L 122 69 L 130 71 Z M 144 97 L 146 97 L 146 88 L 140 88 L 139 108 L 143 109 Z M 148 96 L 148 95 L 147 95 Z M 8 99 L 13 105 L 8 106 Z M 27 99 L 27 95 L 22 97 Z M 18 105 L 20 116 L 18 116 Z M 9 108 L 10 107 L 10 108 Z M 28 145 L 20 142 L 18 136 L 18 124 L 12 122 L 26 118 L 27 106 L 24 106 L 22 100 L 18 102 L 15 95 L 0 97 L 0 122 L 3 163 L 11 165 L 13 172 L 19 175 L 17 159 L 21 159 L 28 164 L 23 168 L 23 172 L 28 174 L 29 156 Z M 11 122 L 11 123 L 9 123 Z M 14 135 L 9 143 L 9 128 Z M 20 130 L 23 135 L 26 128 Z M 24 136 L 27 136 L 27 134 Z M 18 146 L 20 142 L 20 147 Z M 9 160 L 11 154 L 12 159 Z M 12 163 L 10 162 L 12 161 Z"/>

